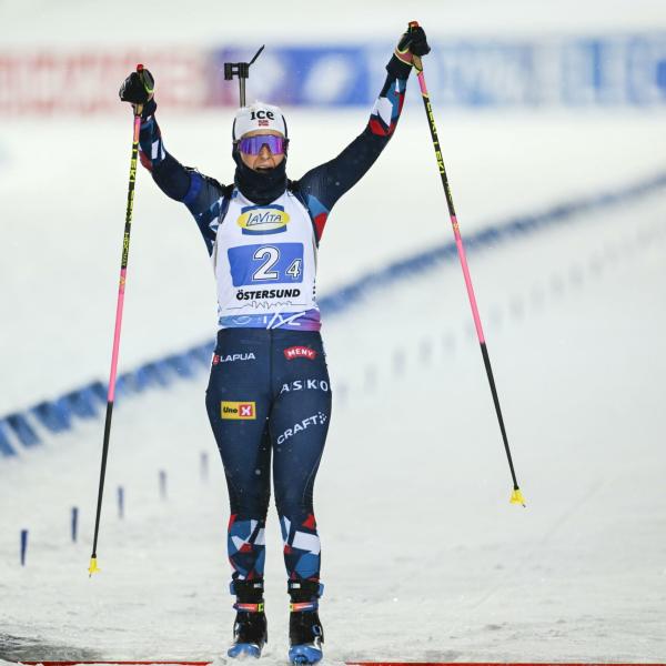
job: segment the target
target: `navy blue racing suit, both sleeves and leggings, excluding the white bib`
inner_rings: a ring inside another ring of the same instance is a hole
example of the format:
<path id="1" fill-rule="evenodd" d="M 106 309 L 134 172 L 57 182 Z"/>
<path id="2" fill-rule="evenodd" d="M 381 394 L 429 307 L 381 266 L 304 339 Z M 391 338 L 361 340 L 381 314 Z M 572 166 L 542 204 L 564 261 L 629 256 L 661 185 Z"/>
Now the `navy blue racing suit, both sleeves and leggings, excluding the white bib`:
<path id="1" fill-rule="evenodd" d="M 387 69 L 363 132 L 336 158 L 290 181 L 289 190 L 312 221 L 317 245 L 335 202 L 372 167 L 395 130 L 410 67 Z M 143 118 L 140 149 L 143 165 L 165 194 L 186 205 L 213 255 L 219 225 L 238 190 L 183 167 L 165 150 L 154 105 Z M 206 408 L 229 487 L 233 579 L 263 577 L 272 460 L 287 576 L 319 582 L 321 548 L 313 486 L 331 418 L 331 385 L 319 322 L 307 330 L 297 325 L 229 327 L 228 321 L 221 320 L 218 333 Z"/>

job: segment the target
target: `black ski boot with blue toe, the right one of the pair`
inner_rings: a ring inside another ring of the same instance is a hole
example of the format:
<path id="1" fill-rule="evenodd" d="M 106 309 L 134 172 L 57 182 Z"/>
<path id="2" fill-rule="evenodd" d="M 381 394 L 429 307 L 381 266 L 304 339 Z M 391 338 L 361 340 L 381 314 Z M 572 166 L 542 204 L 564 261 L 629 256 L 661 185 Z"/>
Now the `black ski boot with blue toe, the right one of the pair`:
<path id="1" fill-rule="evenodd" d="M 313 581 L 290 581 L 289 660 L 294 666 L 316 664 L 322 656 L 324 629 L 319 618 L 319 597 L 324 586 Z"/>

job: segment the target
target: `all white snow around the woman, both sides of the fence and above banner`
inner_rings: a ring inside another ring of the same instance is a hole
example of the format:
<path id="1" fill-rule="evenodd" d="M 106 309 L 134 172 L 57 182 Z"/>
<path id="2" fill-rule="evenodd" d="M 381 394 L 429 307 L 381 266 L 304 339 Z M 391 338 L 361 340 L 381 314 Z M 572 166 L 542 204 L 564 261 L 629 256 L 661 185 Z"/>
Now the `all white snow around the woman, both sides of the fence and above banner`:
<path id="1" fill-rule="evenodd" d="M 389 33 L 415 9 L 345 0 L 307 18 L 303 3 L 289 4 L 293 14 L 255 2 L 258 34 L 284 31 L 295 16 L 304 29 L 294 39 L 351 39 L 371 14 L 373 31 L 377 21 L 377 33 Z M 185 20 L 184 4 L 54 7 L 0 3 L 2 44 L 132 36 L 204 43 L 231 30 L 220 4 L 219 31 L 213 20 Z M 418 9 L 424 24 L 434 26 L 437 12 L 441 30 L 453 32 L 666 24 L 664 3 L 645 0 Z M 182 24 L 191 30 L 176 29 Z M 410 95 L 417 98 L 414 81 Z M 666 165 L 659 110 L 443 114 L 434 103 L 463 236 Z M 0 125 L 0 414 L 107 376 L 131 131 L 124 111 L 109 120 Z M 322 294 L 451 238 L 422 114 L 416 99 L 380 162 L 331 216 Z M 290 110 L 290 171 L 297 175 L 351 140 L 366 111 Z M 176 157 L 229 180 L 228 114 L 191 119 L 160 108 L 160 122 Z M 662 192 L 470 254 L 526 509 L 508 504 L 508 468 L 457 265 L 325 322 L 335 405 L 315 501 L 327 663 L 666 660 L 665 218 Z M 203 243 L 145 172 L 129 271 L 121 371 L 212 336 L 214 285 Z M 102 423 L 46 435 L 44 446 L 0 462 L 0 659 L 224 663 L 233 618 L 228 506 L 205 383 L 201 374 L 119 403 L 102 573 L 92 581 Z M 165 501 L 160 470 L 168 472 Z M 114 511 L 120 484 L 122 521 Z M 77 544 L 69 539 L 72 506 L 81 511 Z M 30 529 L 24 568 L 21 528 Z M 263 662 L 283 664 L 287 598 L 274 512 L 266 538 Z"/>

